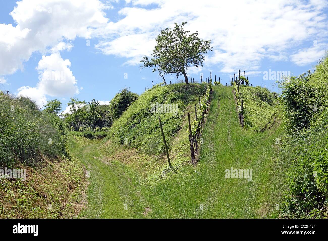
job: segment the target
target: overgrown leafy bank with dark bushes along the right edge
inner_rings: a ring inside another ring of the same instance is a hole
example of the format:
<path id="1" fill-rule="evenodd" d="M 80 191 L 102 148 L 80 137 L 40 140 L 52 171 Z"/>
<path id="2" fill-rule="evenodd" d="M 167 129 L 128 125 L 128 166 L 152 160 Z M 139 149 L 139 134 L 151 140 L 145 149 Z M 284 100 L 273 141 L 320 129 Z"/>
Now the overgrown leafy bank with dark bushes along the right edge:
<path id="1" fill-rule="evenodd" d="M 283 82 L 279 100 L 287 133 L 281 159 L 288 165 L 282 215 L 328 217 L 328 55 L 313 73 Z"/>

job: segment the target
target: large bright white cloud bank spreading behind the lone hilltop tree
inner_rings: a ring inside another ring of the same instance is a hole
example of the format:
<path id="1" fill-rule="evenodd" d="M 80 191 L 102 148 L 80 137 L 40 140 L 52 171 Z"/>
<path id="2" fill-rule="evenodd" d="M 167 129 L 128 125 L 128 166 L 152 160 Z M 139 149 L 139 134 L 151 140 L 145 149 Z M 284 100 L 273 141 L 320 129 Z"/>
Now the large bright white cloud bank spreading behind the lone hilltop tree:
<path id="1" fill-rule="evenodd" d="M 223 72 L 259 70 L 264 58 L 286 61 L 287 50 L 328 35 L 325 0 L 126 2 L 133 7 L 119 10 L 123 18 L 96 31 L 104 38 L 96 48 L 125 57 L 132 65 L 139 64 L 142 55 L 150 55 L 160 29 L 173 27 L 174 22 L 188 21 L 186 30 L 198 30 L 202 39 L 212 40 L 215 51 L 206 56 L 204 68 L 218 65 Z M 151 3 L 158 6 L 144 8 Z"/>

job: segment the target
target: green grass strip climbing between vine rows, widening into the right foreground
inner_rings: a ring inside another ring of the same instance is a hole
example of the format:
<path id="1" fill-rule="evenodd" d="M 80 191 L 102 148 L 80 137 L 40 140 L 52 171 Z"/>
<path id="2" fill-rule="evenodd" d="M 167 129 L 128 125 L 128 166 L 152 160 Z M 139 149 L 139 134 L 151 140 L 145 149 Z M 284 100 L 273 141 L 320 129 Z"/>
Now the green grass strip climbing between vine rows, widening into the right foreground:
<path id="1" fill-rule="evenodd" d="M 152 217 L 255 218 L 274 212 L 274 140 L 281 128 L 243 130 L 235 108 L 232 88 L 215 88 L 200 160 L 146 192 Z M 253 180 L 225 179 L 224 170 L 231 167 L 252 169 Z"/>

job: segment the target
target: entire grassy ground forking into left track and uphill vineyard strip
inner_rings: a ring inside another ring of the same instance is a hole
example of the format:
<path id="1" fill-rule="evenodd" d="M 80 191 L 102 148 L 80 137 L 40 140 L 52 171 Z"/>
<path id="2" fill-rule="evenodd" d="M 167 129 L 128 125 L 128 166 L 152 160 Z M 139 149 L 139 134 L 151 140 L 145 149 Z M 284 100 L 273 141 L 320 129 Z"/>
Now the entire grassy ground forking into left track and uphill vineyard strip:
<path id="1" fill-rule="evenodd" d="M 156 161 L 160 163 L 159 167 L 163 167 L 165 164 L 160 160 L 164 159 L 155 155 L 154 159 L 148 159 L 148 154 L 117 145 L 111 139 L 90 141 L 71 136 L 72 152 L 92 170 L 88 189 L 89 208 L 81 216 L 276 216 L 275 190 L 279 186 L 277 177 L 281 170 L 275 164 L 275 140 L 282 128 L 276 123 L 272 129 L 263 132 L 242 129 L 233 88 L 214 87 L 214 90 L 198 164 L 194 166 L 188 162 L 188 117 L 182 115 L 182 128 L 171 138 L 170 156 L 174 163 L 181 158 L 179 155 L 186 155 L 183 158 L 186 158 L 187 164 L 180 165 L 172 175 L 159 176 L 151 182 L 149 177 L 153 176 L 153 172 L 149 169 L 155 170 Z M 190 105 L 185 113 L 193 109 Z M 195 118 L 194 113 L 192 118 Z M 225 170 L 231 167 L 252 169 L 252 181 L 226 179 Z M 124 210 L 124 204 L 128 204 L 127 210 Z M 143 214 L 147 211 L 150 211 L 147 215 Z"/>

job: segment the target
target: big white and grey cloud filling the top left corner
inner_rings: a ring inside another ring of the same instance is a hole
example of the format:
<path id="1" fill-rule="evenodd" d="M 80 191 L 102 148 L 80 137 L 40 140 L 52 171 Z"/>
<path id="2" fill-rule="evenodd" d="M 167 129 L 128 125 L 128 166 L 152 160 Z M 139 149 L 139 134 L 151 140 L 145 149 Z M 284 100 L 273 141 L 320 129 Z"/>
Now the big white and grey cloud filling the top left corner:
<path id="1" fill-rule="evenodd" d="M 18 1 L 10 13 L 17 26 L 0 24 L 0 74 L 23 69 L 35 51 L 70 49 L 70 44 L 61 43 L 63 39 L 90 38 L 94 28 L 107 23 L 103 12 L 107 8 L 99 0 Z"/>

